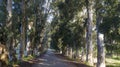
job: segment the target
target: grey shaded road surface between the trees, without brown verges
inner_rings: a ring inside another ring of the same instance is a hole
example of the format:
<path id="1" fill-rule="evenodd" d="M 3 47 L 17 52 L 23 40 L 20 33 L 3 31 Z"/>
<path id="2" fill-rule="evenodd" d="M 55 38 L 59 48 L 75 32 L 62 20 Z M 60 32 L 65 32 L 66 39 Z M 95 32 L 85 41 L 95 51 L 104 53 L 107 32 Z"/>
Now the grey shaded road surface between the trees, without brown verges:
<path id="1" fill-rule="evenodd" d="M 40 58 L 37 58 L 37 63 L 33 64 L 32 67 L 76 67 L 74 64 L 65 62 L 55 55 L 53 50 L 48 49 L 48 51 Z"/>

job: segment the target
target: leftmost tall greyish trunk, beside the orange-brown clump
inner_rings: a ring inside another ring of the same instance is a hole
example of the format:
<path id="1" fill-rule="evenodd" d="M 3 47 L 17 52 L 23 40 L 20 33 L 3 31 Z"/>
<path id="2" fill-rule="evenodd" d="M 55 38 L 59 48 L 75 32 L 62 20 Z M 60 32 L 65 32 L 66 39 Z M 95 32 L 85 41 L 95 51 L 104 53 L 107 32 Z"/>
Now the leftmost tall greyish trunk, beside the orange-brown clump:
<path id="1" fill-rule="evenodd" d="M 8 17 L 7 17 L 7 28 L 10 32 L 10 37 L 8 38 L 8 43 L 7 43 L 7 47 L 9 50 L 9 60 L 12 61 L 13 60 L 13 53 L 14 53 L 14 49 L 13 49 L 13 32 L 12 32 L 12 0 L 7 0 L 7 12 L 8 12 Z"/>

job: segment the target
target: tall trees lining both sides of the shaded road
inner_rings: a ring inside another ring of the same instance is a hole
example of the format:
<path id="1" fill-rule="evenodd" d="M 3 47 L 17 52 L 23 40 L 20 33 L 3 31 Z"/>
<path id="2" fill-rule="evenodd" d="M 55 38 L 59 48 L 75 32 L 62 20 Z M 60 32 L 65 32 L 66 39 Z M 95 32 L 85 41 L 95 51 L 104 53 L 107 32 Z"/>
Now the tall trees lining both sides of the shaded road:
<path id="1" fill-rule="evenodd" d="M 105 67 L 120 55 L 120 1 L 0 0 L 0 66 L 47 48 Z"/>

